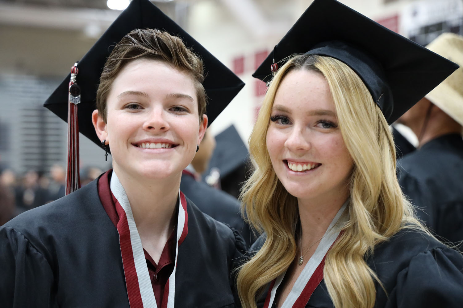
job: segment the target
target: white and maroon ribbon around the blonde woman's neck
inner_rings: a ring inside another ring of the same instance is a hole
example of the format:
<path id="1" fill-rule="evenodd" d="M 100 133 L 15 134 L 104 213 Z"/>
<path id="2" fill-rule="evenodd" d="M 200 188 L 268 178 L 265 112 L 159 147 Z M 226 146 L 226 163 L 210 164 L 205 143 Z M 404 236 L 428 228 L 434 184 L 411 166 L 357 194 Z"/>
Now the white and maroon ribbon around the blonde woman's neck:
<path id="1" fill-rule="evenodd" d="M 310 260 L 308 260 L 306 266 L 304 266 L 304 269 L 300 273 L 299 277 L 296 279 L 293 288 L 289 292 L 288 297 L 286 297 L 281 308 L 306 307 L 313 291 L 323 280 L 323 267 L 325 266 L 326 253 L 333 246 L 334 242 L 336 242 L 341 232 L 339 228 L 334 228 L 334 226 L 338 222 L 341 215 L 344 213 L 346 206 L 347 201 L 333 218 L 333 221 L 330 223 L 330 226 L 325 232 L 325 235 L 321 239 L 319 246 L 313 253 L 313 256 L 310 258 Z M 273 303 L 275 302 L 276 290 L 282 283 L 285 274 L 286 272 L 278 276 L 270 284 L 269 292 L 265 298 L 265 303 L 263 306 L 264 308 L 272 307 Z"/>

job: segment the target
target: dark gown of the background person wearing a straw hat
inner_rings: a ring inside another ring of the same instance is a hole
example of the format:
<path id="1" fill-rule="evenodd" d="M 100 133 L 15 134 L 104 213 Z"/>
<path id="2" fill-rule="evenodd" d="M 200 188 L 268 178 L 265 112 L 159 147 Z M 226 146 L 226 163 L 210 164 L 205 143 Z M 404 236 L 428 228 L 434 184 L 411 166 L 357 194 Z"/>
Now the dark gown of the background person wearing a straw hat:
<path id="1" fill-rule="evenodd" d="M 433 139 L 397 166 L 399 184 L 416 205 L 418 217 L 444 242 L 463 241 L 462 136 Z"/>

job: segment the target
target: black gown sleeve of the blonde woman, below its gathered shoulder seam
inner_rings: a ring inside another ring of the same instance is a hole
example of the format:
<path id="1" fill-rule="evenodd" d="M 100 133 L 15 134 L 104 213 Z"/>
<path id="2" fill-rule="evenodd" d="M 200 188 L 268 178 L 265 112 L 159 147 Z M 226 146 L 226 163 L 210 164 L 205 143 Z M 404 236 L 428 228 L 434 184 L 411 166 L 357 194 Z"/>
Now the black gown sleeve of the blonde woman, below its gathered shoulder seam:
<path id="1" fill-rule="evenodd" d="M 463 256 L 435 248 L 413 257 L 397 276 L 397 307 L 463 307 Z"/>

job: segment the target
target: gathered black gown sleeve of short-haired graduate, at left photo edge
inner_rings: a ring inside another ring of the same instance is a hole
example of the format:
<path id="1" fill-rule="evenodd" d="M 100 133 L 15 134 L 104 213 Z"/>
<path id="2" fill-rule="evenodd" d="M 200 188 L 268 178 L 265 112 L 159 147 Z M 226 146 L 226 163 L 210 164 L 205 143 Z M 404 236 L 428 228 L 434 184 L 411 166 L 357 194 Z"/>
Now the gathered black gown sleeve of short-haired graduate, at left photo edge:
<path id="1" fill-rule="evenodd" d="M 0 303 L 8 308 L 55 307 L 53 272 L 23 234 L 0 228 Z"/>

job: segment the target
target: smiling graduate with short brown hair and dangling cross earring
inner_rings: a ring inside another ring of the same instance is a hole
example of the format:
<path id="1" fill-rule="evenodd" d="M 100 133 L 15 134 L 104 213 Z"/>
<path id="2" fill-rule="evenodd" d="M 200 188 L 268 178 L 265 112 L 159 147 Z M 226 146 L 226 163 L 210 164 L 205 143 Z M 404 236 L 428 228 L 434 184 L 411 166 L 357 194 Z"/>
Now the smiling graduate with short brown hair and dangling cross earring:
<path id="1" fill-rule="evenodd" d="M 239 306 L 242 237 L 179 187 L 243 82 L 148 0 L 131 1 L 76 68 L 79 128 L 113 169 L 0 228 L 2 307 Z M 63 119 L 68 87 L 45 103 Z"/>

